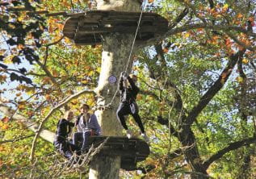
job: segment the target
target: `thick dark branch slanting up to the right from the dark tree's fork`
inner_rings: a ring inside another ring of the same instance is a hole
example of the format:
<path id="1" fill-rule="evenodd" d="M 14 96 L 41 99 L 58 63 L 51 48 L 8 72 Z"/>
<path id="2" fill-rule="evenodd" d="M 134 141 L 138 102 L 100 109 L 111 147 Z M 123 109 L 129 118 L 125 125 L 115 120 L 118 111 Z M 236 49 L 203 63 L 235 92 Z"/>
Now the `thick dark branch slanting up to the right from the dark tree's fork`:
<path id="1" fill-rule="evenodd" d="M 212 98 L 220 91 L 223 85 L 225 85 L 225 82 L 229 79 L 229 76 L 232 73 L 234 66 L 237 64 L 237 61 L 239 60 L 239 58 L 241 58 L 244 52 L 245 51 L 239 51 L 235 55 L 230 56 L 229 63 L 220 74 L 220 77 L 209 88 L 209 90 L 204 94 L 204 96 L 200 98 L 198 105 L 195 106 L 188 114 L 186 122 L 188 125 L 191 125 L 195 122 L 195 119 L 204 109 L 204 107 L 208 105 L 208 102 L 210 102 Z"/>

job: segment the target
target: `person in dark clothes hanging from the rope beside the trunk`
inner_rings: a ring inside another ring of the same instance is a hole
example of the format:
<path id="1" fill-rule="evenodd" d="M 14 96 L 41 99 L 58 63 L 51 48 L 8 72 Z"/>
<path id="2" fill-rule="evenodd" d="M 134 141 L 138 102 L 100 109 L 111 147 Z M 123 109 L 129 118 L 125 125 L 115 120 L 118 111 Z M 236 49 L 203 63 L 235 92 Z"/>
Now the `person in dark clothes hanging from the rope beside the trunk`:
<path id="1" fill-rule="evenodd" d="M 143 124 L 141 122 L 141 117 L 139 115 L 139 108 L 136 104 L 136 95 L 139 93 L 139 88 L 135 85 L 137 81 L 136 75 L 131 74 L 128 76 L 126 73 L 121 73 L 120 77 L 120 106 L 118 107 L 118 110 L 116 111 L 117 119 L 119 119 L 121 125 L 126 130 L 126 134 L 128 138 L 130 139 L 132 137 L 131 131 L 128 129 L 124 115 L 132 114 L 133 119 L 135 119 L 136 123 L 141 129 L 141 135 L 145 139 L 145 141 L 148 141 L 148 137 L 145 134 L 145 129 L 143 127 Z"/>

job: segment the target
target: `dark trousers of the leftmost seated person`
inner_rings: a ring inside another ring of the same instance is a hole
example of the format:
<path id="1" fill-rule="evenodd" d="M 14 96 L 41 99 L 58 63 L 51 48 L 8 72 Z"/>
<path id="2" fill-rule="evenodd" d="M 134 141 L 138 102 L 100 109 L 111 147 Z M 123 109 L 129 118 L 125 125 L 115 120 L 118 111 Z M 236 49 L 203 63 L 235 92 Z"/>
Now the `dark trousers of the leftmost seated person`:
<path id="1" fill-rule="evenodd" d="M 58 152 L 61 153 L 65 158 L 70 159 L 74 151 L 78 151 L 78 147 L 74 144 L 66 141 L 65 139 L 56 139 L 53 142 L 54 147 L 57 148 Z"/>

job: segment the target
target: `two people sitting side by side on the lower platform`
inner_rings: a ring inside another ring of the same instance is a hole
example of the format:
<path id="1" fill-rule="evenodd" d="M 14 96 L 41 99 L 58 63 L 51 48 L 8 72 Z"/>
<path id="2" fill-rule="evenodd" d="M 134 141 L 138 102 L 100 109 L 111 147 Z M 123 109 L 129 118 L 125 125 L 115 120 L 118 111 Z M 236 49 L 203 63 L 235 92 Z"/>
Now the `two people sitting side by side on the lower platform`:
<path id="1" fill-rule="evenodd" d="M 88 137 L 90 135 L 100 135 L 101 128 L 94 114 L 88 111 L 90 107 L 83 104 L 80 107 L 81 114 L 78 115 L 75 123 L 70 122 L 73 119 L 73 111 L 69 110 L 65 114 L 65 119 L 60 119 L 57 123 L 57 132 L 54 139 L 54 146 L 66 158 L 70 159 L 73 152 L 80 155 L 89 149 Z M 68 140 L 68 135 L 72 131 L 71 127 L 77 127 L 78 132 L 73 134 L 72 141 Z M 78 145 L 82 141 L 82 147 Z"/>

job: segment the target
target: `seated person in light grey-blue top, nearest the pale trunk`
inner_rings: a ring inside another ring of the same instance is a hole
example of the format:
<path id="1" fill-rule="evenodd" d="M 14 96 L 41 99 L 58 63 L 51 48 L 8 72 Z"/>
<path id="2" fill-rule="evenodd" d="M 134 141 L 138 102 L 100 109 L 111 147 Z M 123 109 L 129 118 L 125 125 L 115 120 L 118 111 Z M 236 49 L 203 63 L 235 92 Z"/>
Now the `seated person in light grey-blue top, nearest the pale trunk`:
<path id="1" fill-rule="evenodd" d="M 78 141 L 82 141 L 82 152 L 89 149 L 88 137 L 90 135 L 100 135 L 101 128 L 95 114 L 90 114 L 90 106 L 82 104 L 80 107 L 81 114 L 75 122 L 78 132 L 73 134 L 73 144 L 78 145 Z"/>

